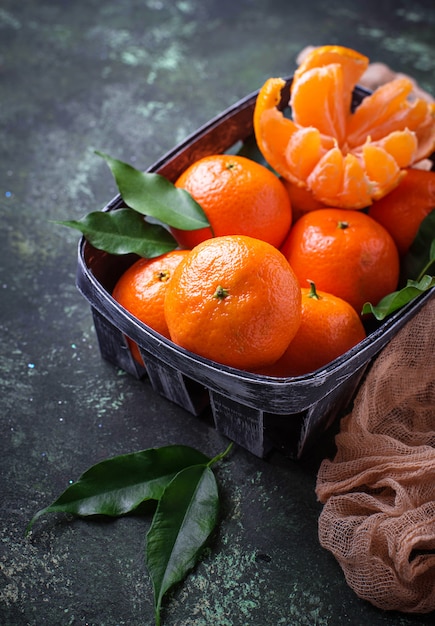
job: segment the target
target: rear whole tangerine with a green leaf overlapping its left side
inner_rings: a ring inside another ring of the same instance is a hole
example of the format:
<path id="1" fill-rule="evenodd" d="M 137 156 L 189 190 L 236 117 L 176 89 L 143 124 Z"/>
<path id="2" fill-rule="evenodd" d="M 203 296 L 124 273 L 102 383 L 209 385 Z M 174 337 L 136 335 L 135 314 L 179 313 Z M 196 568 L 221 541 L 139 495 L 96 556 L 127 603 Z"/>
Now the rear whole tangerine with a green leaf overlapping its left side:
<path id="1" fill-rule="evenodd" d="M 281 181 L 246 157 L 204 157 L 188 167 L 175 185 L 186 189 L 201 205 L 212 227 L 173 229 L 184 248 L 222 235 L 248 235 L 279 247 L 290 228 L 291 204 Z"/>

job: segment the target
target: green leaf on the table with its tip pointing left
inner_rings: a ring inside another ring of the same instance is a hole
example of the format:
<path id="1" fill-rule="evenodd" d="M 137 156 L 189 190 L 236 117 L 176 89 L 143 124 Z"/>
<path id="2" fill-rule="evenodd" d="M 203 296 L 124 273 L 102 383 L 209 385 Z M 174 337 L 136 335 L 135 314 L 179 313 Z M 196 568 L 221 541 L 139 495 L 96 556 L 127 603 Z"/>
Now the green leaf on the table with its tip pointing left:
<path id="1" fill-rule="evenodd" d="M 46 513 L 74 515 L 125 515 L 145 500 L 158 500 L 174 476 L 185 467 L 209 462 L 201 452 L 182 445 L 150 448 L 106 459 L 90 467 L 50 506 L 31 519 Z"/>

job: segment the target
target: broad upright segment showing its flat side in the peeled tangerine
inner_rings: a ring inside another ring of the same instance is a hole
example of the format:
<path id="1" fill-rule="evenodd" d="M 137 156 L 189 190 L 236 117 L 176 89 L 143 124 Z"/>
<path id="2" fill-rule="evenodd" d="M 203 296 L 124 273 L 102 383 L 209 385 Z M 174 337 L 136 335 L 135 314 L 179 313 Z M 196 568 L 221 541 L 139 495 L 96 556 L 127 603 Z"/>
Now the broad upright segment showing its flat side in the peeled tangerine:
<path id="1" fill-rule="evenodd" d="M 343 69 L 338 63 L 307 70 L 292 84 L 290 106 L 294 122 L 315 127 L 342 144 L 349 113 L 345 94 Z"/>

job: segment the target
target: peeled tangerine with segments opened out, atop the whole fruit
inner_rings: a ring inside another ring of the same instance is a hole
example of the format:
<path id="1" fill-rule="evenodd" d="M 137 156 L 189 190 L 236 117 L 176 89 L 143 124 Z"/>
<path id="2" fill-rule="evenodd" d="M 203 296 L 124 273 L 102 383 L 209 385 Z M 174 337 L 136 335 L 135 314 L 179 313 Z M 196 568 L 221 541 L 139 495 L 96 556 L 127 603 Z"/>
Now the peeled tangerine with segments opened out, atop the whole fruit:
<path id="1" fill-rule="evenodd" d="M 351 111 L 368 63 L 342 46 L 315 48 L 293 78 L 292 119 L 278 108 L 283 79 L 267 80 L 256 101 L 254 130 L 264 158 L 328 206 L 371 205 L 435 149 L 435 105 L 411 99 L 407 78 L 382 85 Z"/>

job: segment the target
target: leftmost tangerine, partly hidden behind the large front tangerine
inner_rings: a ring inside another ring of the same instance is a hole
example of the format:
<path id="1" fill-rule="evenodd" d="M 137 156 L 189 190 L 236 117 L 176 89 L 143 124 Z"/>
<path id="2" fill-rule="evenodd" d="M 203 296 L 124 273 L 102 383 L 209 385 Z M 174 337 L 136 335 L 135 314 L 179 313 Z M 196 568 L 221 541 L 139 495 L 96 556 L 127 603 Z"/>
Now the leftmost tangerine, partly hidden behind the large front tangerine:
<path id="1" fill-rule="evenodd" d="M 154 259 L 139 259 L 119 278 L 112 296 L 129 313 L 169 338 L 163 303 L 173 272 L 187 250 L 172 250 Z M 142 363 L 139 349 L 128 339 L 133 357 Z"/>

